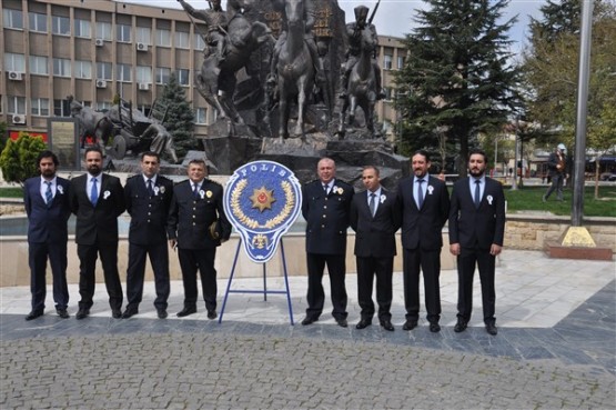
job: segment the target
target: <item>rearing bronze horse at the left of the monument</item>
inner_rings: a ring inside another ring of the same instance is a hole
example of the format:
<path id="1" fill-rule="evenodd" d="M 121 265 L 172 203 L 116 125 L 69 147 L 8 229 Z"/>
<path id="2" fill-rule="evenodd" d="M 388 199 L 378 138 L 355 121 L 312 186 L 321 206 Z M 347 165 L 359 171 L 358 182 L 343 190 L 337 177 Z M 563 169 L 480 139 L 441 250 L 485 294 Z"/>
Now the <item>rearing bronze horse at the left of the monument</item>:
<path id="1" fill-rule="evenodd" d="M 244 4 L 242 4 L 244 6 Z M 231 18 L 228 26 L 226 49 L 224 60 L 220 56 L 206 52 L 201 71 L 195 76 L 196 89 L 210 106 L 218 109 L 219 118 L 229 118 L 233 123 L 243 124 L 244 121 L 235 109 L 233 94 L 238 80 L 235 73 L 244 68 L 250 72 L 250 58 L 253 51 L 265 42 L 273 43 L 270 28 L 260 22 L 249 21 L 241 10 Z"/>

